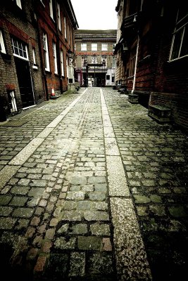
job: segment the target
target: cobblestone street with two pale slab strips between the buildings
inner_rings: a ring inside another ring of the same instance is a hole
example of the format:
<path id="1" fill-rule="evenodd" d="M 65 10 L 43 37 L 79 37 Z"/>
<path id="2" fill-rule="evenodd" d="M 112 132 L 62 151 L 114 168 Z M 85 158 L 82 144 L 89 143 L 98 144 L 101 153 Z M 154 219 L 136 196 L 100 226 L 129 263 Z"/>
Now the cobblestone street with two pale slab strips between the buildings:
<path id="1" fill-rule="evenodd" d="M 106 87 L 24 110 L 0 136 L 4 280 L 184 280 L 186 133 Z"/>

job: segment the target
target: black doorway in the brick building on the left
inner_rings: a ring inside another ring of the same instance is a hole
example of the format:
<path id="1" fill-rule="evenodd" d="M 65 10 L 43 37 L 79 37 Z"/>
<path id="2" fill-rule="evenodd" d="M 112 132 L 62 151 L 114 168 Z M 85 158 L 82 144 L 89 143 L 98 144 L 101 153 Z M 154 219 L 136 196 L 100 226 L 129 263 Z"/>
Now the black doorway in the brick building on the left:
<path id="1" fill-rule="evenodd" d="M 35 105 L 29 62 L 16 57 L 14 60 L 23 108 Z"/>

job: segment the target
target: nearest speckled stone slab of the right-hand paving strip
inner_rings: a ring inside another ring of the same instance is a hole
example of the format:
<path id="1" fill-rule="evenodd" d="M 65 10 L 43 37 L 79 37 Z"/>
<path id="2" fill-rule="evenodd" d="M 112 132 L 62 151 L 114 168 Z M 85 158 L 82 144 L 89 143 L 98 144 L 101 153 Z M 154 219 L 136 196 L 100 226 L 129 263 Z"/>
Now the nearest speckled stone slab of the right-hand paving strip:
<path id="1" fill-rule="evenodd" d="M 112 197 L 110 202 L 118 280 L 152 280 L 132 200 Z"/>

